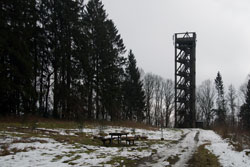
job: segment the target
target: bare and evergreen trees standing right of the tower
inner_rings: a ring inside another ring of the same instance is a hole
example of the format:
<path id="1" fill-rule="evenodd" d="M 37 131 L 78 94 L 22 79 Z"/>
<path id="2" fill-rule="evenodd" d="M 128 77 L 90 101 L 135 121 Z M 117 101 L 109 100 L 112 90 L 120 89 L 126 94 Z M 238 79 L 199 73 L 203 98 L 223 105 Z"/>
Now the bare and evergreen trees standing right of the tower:
<path id="1" fill-rule="evenodd" d="M 197 89 L 196 119 L 204 126 L 250 128 L 250 75 L 237 91 L 231 84 L 227 93 L 220 72 L 214 80 L 205 80 Z"/>

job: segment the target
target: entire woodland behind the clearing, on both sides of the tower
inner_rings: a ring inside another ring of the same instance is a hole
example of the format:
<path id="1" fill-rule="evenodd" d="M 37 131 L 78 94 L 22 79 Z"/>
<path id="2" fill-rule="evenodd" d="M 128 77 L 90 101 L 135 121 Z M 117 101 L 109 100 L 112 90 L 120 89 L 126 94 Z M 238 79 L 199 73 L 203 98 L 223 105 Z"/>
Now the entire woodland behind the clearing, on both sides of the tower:
<path id="1" fill-rule="evenodd" d="M 0 2 L 0 114 L 174 126 L 174 82 L 137 66 L 101 0 Z M 205 127 L 250 128 L 250 77 L 197 87 Z"/>

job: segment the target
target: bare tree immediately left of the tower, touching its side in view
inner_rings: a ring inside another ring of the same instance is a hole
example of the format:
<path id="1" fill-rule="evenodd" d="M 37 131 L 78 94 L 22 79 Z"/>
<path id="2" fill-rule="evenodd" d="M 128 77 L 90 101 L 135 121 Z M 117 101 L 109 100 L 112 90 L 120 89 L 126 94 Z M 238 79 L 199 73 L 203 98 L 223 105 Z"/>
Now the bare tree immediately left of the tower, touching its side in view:
<path id="1" fill-rule="evenodd" d="M 171 113 L 174 109 L 174 82 L 167 79 L 163 82 L 164 103 L 165 103 L 165 125 L 169 124 Z"/>

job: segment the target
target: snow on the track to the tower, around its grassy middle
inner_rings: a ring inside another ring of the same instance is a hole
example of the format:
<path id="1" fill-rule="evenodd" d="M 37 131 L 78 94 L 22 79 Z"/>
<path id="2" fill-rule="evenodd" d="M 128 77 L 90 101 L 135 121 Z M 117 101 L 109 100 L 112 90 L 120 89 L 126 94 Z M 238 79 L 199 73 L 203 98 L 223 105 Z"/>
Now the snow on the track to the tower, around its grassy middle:
<path id="1" fill-rule="evenodd" d="M 198 141 L 195 141 L 195 135 L 198 133 Z M 147 162 L 141 166 L 163 167 L 169 165 L 169 157 L 178 156 L 179 160 L 173 165 L 175 167 L 187 166 L 188 160 L 192 157 L 197 147 L 202 144 L 215 154 L 219 162 L 224 167 L 250 167 L 250 149 L 242 152 L 235 151 L 233 146 L 227 140 L 223 140 L 212 130 L 186 129 L 186 137 L 177 144 L 171 144 L 165 147 L 157 148 L 157 154 L 152 157 L 156 163 Z M 246 152 L 249 154 L 246 155 Z"/>

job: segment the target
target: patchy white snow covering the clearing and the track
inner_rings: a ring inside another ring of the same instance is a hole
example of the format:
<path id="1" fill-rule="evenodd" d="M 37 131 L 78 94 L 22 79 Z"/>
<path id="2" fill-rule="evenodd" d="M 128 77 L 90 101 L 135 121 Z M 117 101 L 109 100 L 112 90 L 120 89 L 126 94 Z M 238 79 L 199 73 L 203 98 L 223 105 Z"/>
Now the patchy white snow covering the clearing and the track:
<path id="1" fill-rule="evenodd" d="M 76 136 L 78 129 L 43 129 L 59 135 Z M 103 133 L 129 132 L 130 136 L 147 136 L 147 141 L 136 141 L 129 147 L 105 147 L 102 145 L 68 144 L 58 142 L 49 135 L 22 138 L 24 133 L 0 131 L 0 152 L 4 147 L 9 155 L 0 156 L 0 167 L 33 166 L 119 166 L 126 160 L 136 166 L 185 166 L 197 147 L 202 144 L 218 156 L 222 166 L 250 166 L 250 150 L 234 151 L 226 140 L 210 130 L 164 129 L 144 130 L 123 127 L 84 128 L 89 136 Z M 163 134 L 164 141 L 161 141 Z M 16 151 L 15 150 L 19 150 Z M 248 155 L 247 155 L 248 154 Z"/>

